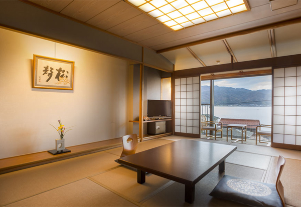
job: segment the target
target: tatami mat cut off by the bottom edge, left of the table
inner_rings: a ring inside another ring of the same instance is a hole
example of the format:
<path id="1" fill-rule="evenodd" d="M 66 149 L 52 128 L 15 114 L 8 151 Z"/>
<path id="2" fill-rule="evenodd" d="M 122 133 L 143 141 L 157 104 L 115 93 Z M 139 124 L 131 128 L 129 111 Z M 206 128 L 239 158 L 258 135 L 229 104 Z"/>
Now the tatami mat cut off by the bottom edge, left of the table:
<path id="1" fill-rule="evenodd" d="M 7 206 L 137 206 L 85 178 Z"/>

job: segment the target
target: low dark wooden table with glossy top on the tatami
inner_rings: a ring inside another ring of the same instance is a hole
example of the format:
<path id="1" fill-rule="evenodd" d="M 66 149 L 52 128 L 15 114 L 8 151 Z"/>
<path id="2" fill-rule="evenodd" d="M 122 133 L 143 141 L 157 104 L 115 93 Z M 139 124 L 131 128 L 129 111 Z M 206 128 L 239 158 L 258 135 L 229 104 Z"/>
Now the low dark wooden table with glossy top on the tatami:
<path id="1" fill-rule="evenodd" d="M 219 165 L 225 171 L 225 159 L 236 146 L 182 139 L 153 149 L 119 158 L 122 164 L 137 168 L 137 182 L 145 182 L 149 172 L 185 184 L 185 201 L 195 199 L 195 184 Z"/>

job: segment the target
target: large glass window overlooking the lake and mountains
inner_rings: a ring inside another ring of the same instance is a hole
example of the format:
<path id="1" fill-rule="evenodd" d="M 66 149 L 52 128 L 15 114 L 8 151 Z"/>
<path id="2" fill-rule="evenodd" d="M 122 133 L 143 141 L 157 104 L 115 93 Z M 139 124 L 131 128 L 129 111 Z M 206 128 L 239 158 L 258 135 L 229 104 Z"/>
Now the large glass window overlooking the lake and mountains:
<path id="1" fill-rule="evenodd" d="M 212 121 L 223 123 L 224 137 L 228 124 L 247 124 L 247 139 L 253 140 L 251 144 L 255 144 L 256 127 L 260 124 L 271 125 L 271 86 L 270 75 L 214 80 Z M 206 111 L 208 98 L 210 99 L 210 81 L 202 81 L 201 111 L 207 120 L 210 117 Z M 270 128 L 262 130 L 270 131 Z M 241 130 L 234 129 L 233 137 L 241 138 Z M 261 136 L 261 141 L 270 141 L 270 136 Z"/>

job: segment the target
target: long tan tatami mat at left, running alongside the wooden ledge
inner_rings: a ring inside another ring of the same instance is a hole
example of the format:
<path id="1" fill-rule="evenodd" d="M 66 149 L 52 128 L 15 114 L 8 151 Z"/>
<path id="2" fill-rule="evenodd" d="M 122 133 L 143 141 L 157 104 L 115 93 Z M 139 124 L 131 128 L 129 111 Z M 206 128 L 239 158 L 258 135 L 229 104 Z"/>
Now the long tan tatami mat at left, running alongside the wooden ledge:
<path id="1" fill-rule="evenodd" d="M 119 166 L 118 156 L 97 152 L 0 175 L 0 206 Z"/>

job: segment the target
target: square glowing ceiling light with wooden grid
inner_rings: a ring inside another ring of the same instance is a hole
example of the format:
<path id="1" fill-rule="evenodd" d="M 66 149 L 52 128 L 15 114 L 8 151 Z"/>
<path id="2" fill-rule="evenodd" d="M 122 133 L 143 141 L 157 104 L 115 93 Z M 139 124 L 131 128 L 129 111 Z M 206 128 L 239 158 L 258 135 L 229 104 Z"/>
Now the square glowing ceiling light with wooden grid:
<path id="1" fill-rule="evenodd" d="M 246 0 L 126 0 L 173 30 L 248 11 Z"/>

